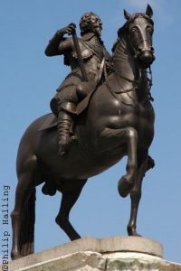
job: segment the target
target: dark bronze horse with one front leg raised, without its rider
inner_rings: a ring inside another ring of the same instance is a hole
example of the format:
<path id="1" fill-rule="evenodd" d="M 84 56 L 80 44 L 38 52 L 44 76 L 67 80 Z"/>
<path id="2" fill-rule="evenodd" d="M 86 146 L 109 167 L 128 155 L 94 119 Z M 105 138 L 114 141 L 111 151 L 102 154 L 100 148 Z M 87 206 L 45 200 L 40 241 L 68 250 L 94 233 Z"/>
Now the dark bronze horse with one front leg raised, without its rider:
<path id="1" fill-rule="evenodd" d="M 150 102 L 147 69 L 154 61 L 152 9 L 128 14 L 113 46 L 114 72 L 90 98 L 89 107 L 76 120 L 79 143 L 71 142 L 68 154 L 58 155 L 55 126 L 40 130 L 49 115 L 36 119 L 24 133 L 17 154 L 18 183 L 14 210 L 12 258 L 33 253 L 35 187 L 62 192 L 56 223 L 71 240 L 81 238 L 69 221 L 88 178 L 102 173 L 128 155 L 126 174 L 119 180 L 122 197 L 130 194 L 130 236 L 138 236 L 136 220 L 145 173 L 154 166 L 148 155 L 154 136 L 154 109 Z"/>

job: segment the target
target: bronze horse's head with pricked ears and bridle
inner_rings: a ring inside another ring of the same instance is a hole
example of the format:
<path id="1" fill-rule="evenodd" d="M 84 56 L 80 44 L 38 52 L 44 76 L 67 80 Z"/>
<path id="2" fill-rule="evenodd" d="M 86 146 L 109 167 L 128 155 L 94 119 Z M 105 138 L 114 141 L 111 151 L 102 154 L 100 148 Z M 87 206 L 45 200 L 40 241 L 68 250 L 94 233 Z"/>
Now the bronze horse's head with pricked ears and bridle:
<path id="1" fill-rule="evenodd" d="M 146 14 L 129 14 L 124 10 L 127 22 L 119 29 L 119 37 L 125 34 L 128 39 L 129 49 L 134 55 L 138 66 L 147 69 L 155 60 L 152 47 L 152 34 L 154 23 L 151 19 L 153 11 L 150 5 L 147 6 Z"/>

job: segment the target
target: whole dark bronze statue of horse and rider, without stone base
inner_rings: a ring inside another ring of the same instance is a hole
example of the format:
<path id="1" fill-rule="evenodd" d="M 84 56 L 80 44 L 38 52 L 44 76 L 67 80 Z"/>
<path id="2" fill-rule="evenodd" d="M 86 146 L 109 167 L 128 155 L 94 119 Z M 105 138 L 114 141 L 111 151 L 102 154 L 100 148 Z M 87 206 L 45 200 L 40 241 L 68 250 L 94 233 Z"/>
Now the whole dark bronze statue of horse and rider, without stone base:
<path id="1" fill-rule="evenodd" d="M 150 66 L 154 23 L 146 13 L 129 14 L 118 30 L 112 55 L 100 38 L 97 14 L 81 17 L 81 38 L 70 23 L 54 34 L 47 56 L 64 56 L 71 71 L 52 98 L 52 113 L 34 120 L 19 145 L 18 183 L 14 210 L 12 259 L 33 253 L 35 191 L 62 192 L 56 223 L 71 240 L 81 238 L 69 215 L 87 180 L 128 156 L 120 177 L 121 197 L 130 195 L 129 236 L 137 232 L 138 204 L 145 173 L 154 167 L 148 150 L 154 137 Z M 70 36 L 66 37 L 66 34 Z"/>

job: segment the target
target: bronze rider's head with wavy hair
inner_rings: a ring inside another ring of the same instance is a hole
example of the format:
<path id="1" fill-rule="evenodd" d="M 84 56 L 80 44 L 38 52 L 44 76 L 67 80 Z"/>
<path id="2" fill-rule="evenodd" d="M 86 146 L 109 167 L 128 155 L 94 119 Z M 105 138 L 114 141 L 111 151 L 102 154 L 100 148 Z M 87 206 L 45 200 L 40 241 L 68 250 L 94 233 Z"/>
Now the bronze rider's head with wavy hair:
<path id="1" fill-rule="evenodd" d="M 80 20 L 81 35 L 85 33 L 99 33 L 102 30 L 100 17 L 92 12 L 83 14 Z"/>

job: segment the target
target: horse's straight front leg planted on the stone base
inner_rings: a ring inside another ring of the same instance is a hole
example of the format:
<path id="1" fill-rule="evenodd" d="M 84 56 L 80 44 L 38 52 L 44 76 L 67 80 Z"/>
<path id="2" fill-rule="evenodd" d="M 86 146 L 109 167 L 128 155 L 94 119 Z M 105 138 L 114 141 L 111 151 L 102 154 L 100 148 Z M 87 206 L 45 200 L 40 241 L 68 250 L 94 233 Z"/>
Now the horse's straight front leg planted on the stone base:
<path id="1" fill-rule="evenodd" d="M 130 192 L 131 199 L 131 212 L 128 224 L 129 236 L 140 236 L 137 232 L 137 215 L 138 215 L 138 204 L 141 198 L 141 185 L 145 173 L 152 167 L 154 167 L 154 160 L 147 155 L 142 156 L 141 160 L 138 161 L 138 173 L 136 176 L 136 182 L 133 189 Z"/>

